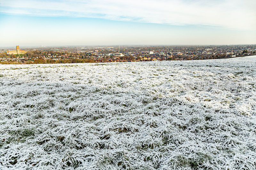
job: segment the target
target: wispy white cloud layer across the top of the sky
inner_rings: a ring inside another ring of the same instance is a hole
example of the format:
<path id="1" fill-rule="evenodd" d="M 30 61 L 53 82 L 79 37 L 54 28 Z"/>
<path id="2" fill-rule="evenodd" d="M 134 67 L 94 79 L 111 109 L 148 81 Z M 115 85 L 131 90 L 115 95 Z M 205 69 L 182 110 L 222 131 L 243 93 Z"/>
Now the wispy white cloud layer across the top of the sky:
<path id="1" fill-rule="evenodd" d="M 255 0 L 1 0 L 0 12 L 256 29 Z"/>

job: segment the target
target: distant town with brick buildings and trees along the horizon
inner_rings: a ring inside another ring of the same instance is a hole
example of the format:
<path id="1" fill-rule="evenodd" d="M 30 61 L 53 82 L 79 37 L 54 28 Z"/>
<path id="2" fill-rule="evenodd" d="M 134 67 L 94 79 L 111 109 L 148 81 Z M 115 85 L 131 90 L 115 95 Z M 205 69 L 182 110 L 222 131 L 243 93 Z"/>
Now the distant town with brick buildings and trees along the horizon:
<path id="1" fill-rule="evenodd" d="M 0 64 L 205 60 L 255 55 L 256 45 L 71 46 L 0 49 Z"/>

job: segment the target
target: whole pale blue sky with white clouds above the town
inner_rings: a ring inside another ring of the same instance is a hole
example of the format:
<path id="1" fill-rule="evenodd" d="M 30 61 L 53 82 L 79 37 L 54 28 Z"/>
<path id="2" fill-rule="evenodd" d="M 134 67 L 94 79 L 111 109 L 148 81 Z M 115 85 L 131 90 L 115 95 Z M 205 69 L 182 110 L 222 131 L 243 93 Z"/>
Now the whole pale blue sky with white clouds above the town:
<path id="1" fill-rule="evenodd" d="M 255 44 L 251 5 L 255 1 L 0 0 L 0 47 Z"/>

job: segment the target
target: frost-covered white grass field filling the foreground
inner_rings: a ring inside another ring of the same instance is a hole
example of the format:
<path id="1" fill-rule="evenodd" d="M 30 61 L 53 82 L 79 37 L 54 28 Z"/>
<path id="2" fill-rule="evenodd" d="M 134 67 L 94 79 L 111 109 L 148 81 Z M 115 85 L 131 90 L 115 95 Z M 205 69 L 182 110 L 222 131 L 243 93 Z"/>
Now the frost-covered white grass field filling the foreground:
<path id="1" fill-rule="evenodd" d="M 0 65 L 0 169 L 255 169 L 256 57 Z"/>

